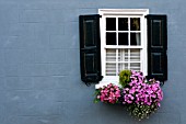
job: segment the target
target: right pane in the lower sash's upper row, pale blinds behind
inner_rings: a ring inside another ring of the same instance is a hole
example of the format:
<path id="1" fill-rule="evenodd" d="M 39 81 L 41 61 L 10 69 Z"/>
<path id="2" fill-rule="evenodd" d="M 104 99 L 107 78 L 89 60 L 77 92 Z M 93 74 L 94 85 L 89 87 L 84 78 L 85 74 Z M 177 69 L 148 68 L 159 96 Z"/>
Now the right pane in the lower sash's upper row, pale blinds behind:
<path id="1" fill-rule="evenodd" d="M 140 61 L 140 49 L 130 50 L 130 61 Z"/>

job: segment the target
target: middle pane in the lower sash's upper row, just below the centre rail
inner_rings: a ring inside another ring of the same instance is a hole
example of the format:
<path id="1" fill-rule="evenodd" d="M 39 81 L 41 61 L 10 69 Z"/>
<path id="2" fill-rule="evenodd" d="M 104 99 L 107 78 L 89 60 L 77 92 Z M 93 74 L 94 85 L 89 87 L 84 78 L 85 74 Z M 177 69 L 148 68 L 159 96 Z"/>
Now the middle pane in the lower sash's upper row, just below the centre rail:
<path id="1" fill-rule="evenodd" d="M 118 61 L 128 61 L 128 49 L 118 49 Z"/>

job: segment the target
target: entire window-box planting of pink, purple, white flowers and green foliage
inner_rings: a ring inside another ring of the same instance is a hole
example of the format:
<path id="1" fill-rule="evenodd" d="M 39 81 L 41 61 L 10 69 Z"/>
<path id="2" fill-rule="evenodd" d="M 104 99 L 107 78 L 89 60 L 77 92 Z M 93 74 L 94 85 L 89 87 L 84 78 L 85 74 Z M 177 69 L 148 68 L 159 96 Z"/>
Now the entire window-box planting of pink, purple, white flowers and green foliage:
<path id="1" fill-rule="evenodd" d="M 109 83 L 97 89 L 95 102 L 121 103 L 135 117 L 139 120 L 149 117 L 160 108 L 160 102 L 163 100 L 160 81 L 147 80 L 141 71 L 125 70 L 121 72 L 119 75 L 121 88 Z"/>

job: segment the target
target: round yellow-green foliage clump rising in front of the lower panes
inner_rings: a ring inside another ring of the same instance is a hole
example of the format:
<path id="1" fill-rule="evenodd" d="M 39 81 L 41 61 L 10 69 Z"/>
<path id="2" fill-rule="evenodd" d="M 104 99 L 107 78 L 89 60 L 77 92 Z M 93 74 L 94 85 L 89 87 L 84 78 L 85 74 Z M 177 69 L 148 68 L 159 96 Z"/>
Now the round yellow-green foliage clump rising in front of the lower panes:
<path id="1" fill-rule="evenodd" d="M 130 76 L 131 76 L 130 70 L 120 71 L 120 74 L 119 74 L 119 84 L 121 84 L 123 88 L 128 86 L 128 83 L 130 82 Z"/>

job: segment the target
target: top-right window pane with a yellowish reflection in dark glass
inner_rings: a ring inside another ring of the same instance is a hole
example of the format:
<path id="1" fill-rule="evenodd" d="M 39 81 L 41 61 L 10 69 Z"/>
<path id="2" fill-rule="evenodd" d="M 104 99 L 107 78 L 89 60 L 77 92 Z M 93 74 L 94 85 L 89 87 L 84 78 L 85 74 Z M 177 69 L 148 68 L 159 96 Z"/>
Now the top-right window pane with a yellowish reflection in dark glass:
<path id="1" fill-rule="evenodd" d="M 140 31 L 139 18 L 130 18 L 130 31 Z"/>

